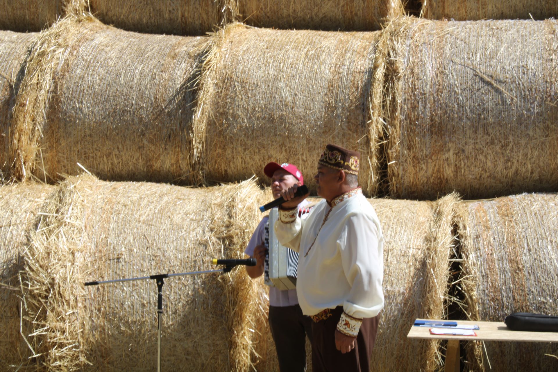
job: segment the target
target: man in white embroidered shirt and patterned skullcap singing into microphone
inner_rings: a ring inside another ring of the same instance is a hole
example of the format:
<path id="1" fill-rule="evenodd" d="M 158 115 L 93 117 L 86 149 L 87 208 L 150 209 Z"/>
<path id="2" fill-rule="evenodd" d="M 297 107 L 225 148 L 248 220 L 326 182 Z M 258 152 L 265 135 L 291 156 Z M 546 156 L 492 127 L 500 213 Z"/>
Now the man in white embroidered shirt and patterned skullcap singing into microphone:
<path id="1" fill-rule="evenodd" d="M 360 154 L 328 144 L 314 177 L 324 198 L 301 219 L 294 197 L 285 200 L 275 231 L 300 253 L 297 295 L 312 322 L 312 370 L 365 371 L 384 305 L 383 237 L 378 217 L 357 187 Z"/>

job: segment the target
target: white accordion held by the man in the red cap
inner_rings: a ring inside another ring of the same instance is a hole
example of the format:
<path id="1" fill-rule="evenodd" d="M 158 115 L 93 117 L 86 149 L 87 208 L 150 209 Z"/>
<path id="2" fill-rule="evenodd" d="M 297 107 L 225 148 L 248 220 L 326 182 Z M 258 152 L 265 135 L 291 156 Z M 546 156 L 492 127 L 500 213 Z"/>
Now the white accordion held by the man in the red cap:
<path id="1" fill-rule="evenodd" d="M 280 290 L 296 288 L 296 270 L 299 264 L 299 253 L 283 247 L 275 236 L 275 223 L 279 218 L 277 208 L 270 211 L 268 220 L 268 236 L 266 243 L 268 253 L 264 263 L 264 283 Z M 266 234 L 267 235 L 267 234 Z"/>

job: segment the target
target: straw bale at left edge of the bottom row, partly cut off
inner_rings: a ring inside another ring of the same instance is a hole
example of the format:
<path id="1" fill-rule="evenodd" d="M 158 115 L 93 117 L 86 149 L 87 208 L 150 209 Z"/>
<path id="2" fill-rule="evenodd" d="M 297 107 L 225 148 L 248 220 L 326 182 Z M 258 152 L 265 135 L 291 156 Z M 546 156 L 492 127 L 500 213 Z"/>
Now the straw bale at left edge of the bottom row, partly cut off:
<path id="1" fill-rule="evenodd" d="M 20 328 L 20 271 L 29 231 L 54 186 L 0 186 L 0 370 L 25 366 L 34 353 L 25 343 L 30 332 Z M 21 331 L 21 334 L 20 334 Z"/>

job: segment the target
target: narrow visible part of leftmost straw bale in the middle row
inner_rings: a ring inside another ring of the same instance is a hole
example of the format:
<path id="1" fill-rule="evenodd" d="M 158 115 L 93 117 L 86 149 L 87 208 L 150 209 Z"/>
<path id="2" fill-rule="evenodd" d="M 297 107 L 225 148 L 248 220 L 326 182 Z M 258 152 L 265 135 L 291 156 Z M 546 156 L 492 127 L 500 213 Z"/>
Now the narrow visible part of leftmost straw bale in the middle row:
<path id="1" fill-rule="evenodd" d="M 21 83 L 23 61 L 38 33 L 0 31 L 0 181 L 9 175 L 12 110 Z"/>

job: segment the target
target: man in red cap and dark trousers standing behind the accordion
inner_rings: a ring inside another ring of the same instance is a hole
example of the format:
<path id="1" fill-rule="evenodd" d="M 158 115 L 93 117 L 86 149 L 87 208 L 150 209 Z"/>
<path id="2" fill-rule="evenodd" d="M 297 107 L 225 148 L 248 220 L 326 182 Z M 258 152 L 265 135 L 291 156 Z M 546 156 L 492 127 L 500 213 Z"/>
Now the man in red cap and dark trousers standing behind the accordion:
<path id="1" fill-rule="evenodd" d="M 273 199 L 281 197 L 281 192 L 292 186 L 304 185 L 304 177 L 299 169 L 288 163 L 281 165 L 271 162 L 263 172 L 271 178 Z M 303 200 L 297 206 L 297 214 L 309 212 L 308 201 Z M 266 265 L 266 254 L 269 248 L 269 219 L 264 217 L 254 231 L 248 247 L 244 253 L 256 258 L 256 266 L 246 266 L 251 278 L 262 276 Z M 312 340 L 312 321 L 310 317 L 302 315 L 296 289 L 281 291 L 270 287 L 270 312 L 268 316 L 271 335 L 275 341 L 279 369 L 282 372 L 306 370 L 306 335 Z"/>

